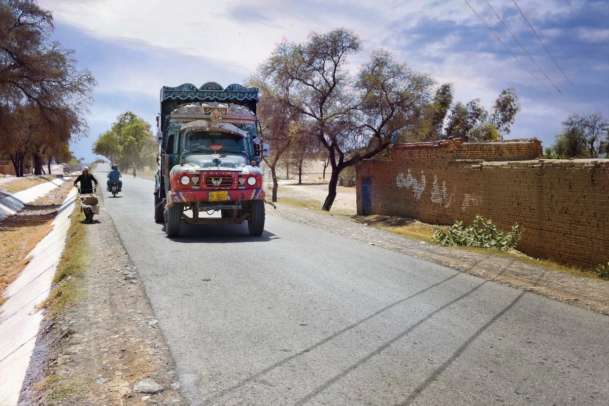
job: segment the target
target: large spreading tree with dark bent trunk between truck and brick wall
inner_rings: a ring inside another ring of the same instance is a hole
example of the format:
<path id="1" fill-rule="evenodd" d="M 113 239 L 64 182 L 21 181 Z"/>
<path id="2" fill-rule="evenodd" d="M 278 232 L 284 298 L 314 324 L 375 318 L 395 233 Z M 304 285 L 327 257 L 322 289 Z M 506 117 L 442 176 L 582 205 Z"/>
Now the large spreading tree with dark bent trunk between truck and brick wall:
<path id="1" fill-rule="evenodd" d="M 323 209 L 336 198 L 339 173 L 372 158 L 392 144 L 392 133 L 405 127 L 429 104 L 432 80 L 375 51 L 356 78 L 348 55 L 361 41 L 347 29 L 309 35 L 303 44 L 280 43 L 261 66 L 271 82 L 288 89 L 282 97 L 328 151 L 332 168 Z"/>

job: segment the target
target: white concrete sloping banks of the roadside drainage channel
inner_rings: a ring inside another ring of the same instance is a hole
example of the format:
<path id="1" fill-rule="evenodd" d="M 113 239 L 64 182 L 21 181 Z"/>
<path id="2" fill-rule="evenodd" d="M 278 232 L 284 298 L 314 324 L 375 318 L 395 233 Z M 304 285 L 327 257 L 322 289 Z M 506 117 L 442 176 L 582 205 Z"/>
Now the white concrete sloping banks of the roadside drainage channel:
<path id="1" fill-rule="evenodd" d="M 61 184 L 57 179 L 0 200 L 0 220 Z M 63 201 L 51 232 L 30 252 L 30 262 L 4 292 L 0 306 L 0 405 L 16 405 L 42 321 L 36 307 L 46 300 L 63 253 L 77 191 Z M 9 200 L 7 200 L 9 199 Z"/>

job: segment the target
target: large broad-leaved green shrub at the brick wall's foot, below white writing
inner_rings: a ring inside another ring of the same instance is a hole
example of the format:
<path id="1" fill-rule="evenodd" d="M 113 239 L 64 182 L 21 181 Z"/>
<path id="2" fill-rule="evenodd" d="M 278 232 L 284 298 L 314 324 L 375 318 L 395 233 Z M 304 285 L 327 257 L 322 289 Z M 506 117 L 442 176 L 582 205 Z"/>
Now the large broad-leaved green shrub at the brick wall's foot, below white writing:
<path id="1" fill-rule="evenodd" d="M 435 227 L 433 239 L 435 242 L 449 247 L 457 245 L 508 251 L 516 246 L 523 231 L 524 228 L 515 224 L 509 233 L 505 233 L 497 229 L 491 220 L 476 215 L 476 220 L 468 226 L 463 226 L 463 222 L 457 220 L 446 230 Z"/>

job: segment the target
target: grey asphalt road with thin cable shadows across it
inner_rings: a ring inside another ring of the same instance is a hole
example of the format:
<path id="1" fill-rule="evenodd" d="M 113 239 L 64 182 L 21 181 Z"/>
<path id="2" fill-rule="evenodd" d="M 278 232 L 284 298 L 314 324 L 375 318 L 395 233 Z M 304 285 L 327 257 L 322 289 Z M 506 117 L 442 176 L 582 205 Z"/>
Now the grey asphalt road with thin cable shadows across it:
<path id="1" fill-rule="evenodd" d="M 607 316 L 270 211 L 169 239 L 123 180 L 107 213 L 191 406 L 609 404 Z"/>

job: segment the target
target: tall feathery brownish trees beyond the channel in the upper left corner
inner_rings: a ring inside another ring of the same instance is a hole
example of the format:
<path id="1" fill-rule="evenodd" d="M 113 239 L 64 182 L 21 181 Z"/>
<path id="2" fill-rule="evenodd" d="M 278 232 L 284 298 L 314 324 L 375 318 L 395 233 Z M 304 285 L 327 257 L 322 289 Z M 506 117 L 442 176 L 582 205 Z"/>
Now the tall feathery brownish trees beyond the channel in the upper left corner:
<path id="1" fill-rule="evenodd" d="M 77 70 L 74 52 L 49 41 L 51 12 L 33 0 L 0 0 L 0 159 L 17 176 L 52 161 L 72 162 L 69 141 L 86 136 L 96 81 Z"/>

